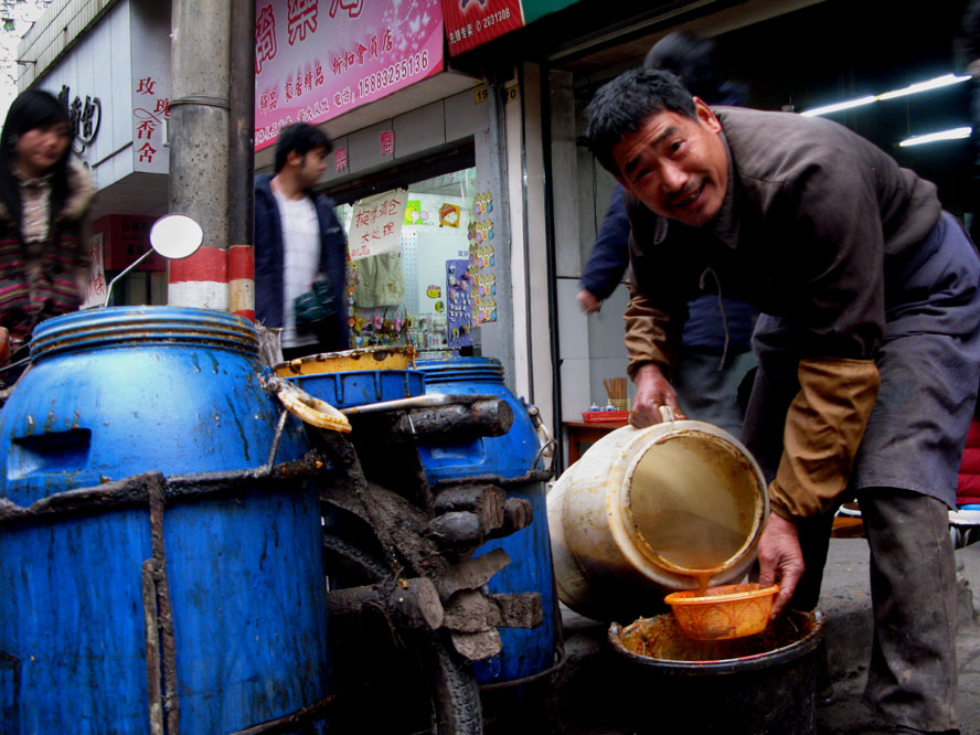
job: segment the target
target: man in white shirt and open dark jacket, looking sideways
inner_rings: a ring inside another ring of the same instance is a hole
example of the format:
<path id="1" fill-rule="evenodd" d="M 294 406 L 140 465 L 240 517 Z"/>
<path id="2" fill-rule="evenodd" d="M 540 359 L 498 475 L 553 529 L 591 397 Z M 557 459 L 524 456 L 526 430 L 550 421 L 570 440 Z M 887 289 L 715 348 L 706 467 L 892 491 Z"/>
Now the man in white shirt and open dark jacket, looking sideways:
<path id="1" fill-rule="evenodd" d="M 276 145 L 276 173 L 255 179 L 255 318 L 283 329 L 287 360 L 350 344 L 347 239 L 333 202 L 312 189 L 332 147 L 313 126 L 290 125 Z M 316 331 L 303 331 L 296 324 L 294 300 L 316 280 L 329 285 L 333 313 Z"/>

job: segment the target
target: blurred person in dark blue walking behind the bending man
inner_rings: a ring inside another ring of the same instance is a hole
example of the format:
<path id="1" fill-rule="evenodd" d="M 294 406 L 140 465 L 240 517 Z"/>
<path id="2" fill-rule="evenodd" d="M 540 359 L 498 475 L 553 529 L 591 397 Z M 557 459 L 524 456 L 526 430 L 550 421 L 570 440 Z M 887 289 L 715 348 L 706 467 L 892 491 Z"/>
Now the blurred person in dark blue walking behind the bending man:
<path id="1" fill-rule="evenodd" d="M 643 61 L 647 68 L 664 68 L 681 77 L 693 94 L 717 105 L 741 105 L 743 85 L 717 77 L 715 44 L 685 32 L 669 33 L 653 44 Z M 629 217 L 622 187 L 617 184 L 606 219 L 582 275 L 578 302 L 594 313 L 622 280 L 629 265 Z M 670 274 L 664 274 L 665 278 Z M 705 288 L 720 291 L 718 284 Z M 690 316 L 673 365 L 673 386 L 684 415 L 738 435 L 745 403 L 743 381 L 750 383 L 755 358 L 752 330 L 755 309 L 720 292 L 700 296 L 689 305 Z"/>

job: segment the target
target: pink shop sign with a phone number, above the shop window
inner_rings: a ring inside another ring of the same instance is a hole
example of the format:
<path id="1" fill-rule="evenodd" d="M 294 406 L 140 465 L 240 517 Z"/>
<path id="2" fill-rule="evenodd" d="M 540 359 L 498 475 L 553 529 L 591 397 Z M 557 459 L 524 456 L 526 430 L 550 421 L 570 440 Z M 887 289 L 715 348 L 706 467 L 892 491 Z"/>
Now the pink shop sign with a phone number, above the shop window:
<path id="1" fill-rule="evenodd" d="M 255 150 L 443 71 L 439 0 L 256 0 Z"/>

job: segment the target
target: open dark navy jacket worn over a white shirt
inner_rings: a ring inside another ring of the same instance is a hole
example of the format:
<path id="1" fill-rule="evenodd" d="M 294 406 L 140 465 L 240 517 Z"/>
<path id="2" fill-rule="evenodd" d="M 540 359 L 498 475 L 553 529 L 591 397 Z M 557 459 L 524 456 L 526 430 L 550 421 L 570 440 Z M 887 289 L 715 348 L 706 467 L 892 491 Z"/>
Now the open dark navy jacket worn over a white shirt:
<path id="1" fill-rule="evenodd" d="M 283 327 L 283 223 L 279 206 L 269 182 L 271 174 L 255 178 L 255 318 L 266 327 Z M 307 190 L 307 196 L 317 209 L 320 225 L 320 274 L 327 276 L 337 296 L 337 329 L 333 344 L 320 344 L 324 350 L 345 350 L 349 347 L 348 309 L 345 296 L 347 241 L 333 202 L 322 194 Z M 313 281 L 317 274 L 310 274 Z"/>

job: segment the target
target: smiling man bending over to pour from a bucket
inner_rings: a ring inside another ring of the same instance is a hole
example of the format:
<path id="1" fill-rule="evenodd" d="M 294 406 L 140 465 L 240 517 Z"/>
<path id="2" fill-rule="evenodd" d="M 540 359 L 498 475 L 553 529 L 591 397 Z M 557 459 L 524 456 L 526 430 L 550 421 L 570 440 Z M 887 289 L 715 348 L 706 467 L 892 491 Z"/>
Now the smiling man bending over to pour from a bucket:
<path id="1" fill-rule="evenodd" d="M 586 115 L 628 192 L 637 425 L 677 406 L 664 370 L 710 270 L 761 312 L 742 436 L 769 480 L 759 584 L 780 586 L 774 615 L 807 571 L 800 526 L 856 494 L 865 699 L 893 732 L 957 732 L 948 509 L 980 385 L 980 258 L 962 226 L 934 184 L 830 120 L 711 108 L 648 70 Z"/>

